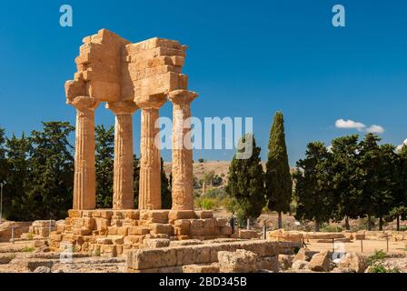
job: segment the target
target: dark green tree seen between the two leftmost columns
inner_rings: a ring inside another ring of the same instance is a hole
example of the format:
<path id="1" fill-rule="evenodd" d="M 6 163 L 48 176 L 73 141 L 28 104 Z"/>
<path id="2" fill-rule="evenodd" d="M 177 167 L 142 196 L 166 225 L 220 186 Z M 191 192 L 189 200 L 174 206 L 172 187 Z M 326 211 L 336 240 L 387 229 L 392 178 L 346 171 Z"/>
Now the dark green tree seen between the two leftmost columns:
<path id="1" fill-rule="evenodd" d="M 94 128 L 96 167 L 96 206 L 112 208 L 114 176 L 114 126 Z"/>

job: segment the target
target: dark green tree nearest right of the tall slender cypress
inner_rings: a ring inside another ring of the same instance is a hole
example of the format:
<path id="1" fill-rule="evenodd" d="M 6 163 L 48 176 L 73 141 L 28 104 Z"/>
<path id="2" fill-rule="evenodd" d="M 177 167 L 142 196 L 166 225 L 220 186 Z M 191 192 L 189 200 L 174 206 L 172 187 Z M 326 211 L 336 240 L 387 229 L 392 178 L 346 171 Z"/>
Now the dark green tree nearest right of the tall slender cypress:
<path id="1" fill-rule="evenodd" d="M 296 219 L 313 220 L 315 231 L 333 217 L 335 199 L 332 183 L 332 154 L 323 143 L 308 144 L 305 158 L 297 162 L 293 174 L 296 181 Z"/>

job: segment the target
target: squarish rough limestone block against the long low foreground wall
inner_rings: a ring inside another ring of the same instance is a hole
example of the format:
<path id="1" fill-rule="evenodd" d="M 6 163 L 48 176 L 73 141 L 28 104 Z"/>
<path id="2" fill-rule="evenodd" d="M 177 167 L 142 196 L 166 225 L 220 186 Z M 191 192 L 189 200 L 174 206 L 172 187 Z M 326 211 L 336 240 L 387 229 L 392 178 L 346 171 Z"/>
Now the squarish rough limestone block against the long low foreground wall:
<path id="1" fill-rule="evenodd" d="M 258 256 L 253 252 L 238 249 L 235 252 L 219 252 L 219 271 L 221 273 L 253 273 L 257 270 Z"/>

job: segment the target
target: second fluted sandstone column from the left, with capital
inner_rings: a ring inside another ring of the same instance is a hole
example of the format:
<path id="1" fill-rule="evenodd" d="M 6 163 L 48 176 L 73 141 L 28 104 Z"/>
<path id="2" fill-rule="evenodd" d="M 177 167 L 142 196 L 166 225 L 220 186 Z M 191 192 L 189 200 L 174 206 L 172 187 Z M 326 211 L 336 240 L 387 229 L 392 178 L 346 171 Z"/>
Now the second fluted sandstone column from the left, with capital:
<path id="1" fill-rule="evenodd" d="M 114 185 L 113 208 L 134 208 L 133 181 L 133 117 L 134 102 L 109 102 L 107 109 L 114 112 Z"/>

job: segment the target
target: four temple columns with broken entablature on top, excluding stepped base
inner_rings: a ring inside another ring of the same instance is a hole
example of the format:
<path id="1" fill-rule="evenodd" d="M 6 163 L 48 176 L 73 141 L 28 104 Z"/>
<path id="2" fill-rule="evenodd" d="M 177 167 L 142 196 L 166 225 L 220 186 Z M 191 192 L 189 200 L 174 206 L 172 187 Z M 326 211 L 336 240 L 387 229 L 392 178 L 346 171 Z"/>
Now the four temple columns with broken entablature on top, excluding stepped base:
<path id="1" fill-rule="evenodd" d="M 191 116 L 190 104 L 196 97 L 182 74 L 187 46 L 157 37 L 132 44 L 105 29 L 83 42 L 75 59 L 77 73 L 65 84 L 66 101 L 76 108 L 73 209 L 96 206 L 94 109 L 102 102 L 115 115 L 113 208 L 134 208 L 132 115 L 140 109 L 139 209 L 161 209 L 155 122 L 160 107 L 170 101 L 174 105 L 173 209 L 194 210 L 192 149 L 184 145 L 184 135 L 191 130 L 184 120 Z"/>

